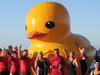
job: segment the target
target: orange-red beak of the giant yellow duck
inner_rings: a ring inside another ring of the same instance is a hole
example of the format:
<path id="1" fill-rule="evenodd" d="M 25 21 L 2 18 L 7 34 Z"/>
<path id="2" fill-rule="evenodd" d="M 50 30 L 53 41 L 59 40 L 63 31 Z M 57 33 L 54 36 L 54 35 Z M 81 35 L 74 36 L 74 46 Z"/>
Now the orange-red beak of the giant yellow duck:
<path id="1" fill-rule="evenodd" d="M 33 31 L 28 35 L 28 39 L 35 39 L 35 38 L 41 38 L 43 36 L 45 36 L 46 33 L 41 33 L 41 32 L 37 32 L 37 31 Z"/>

